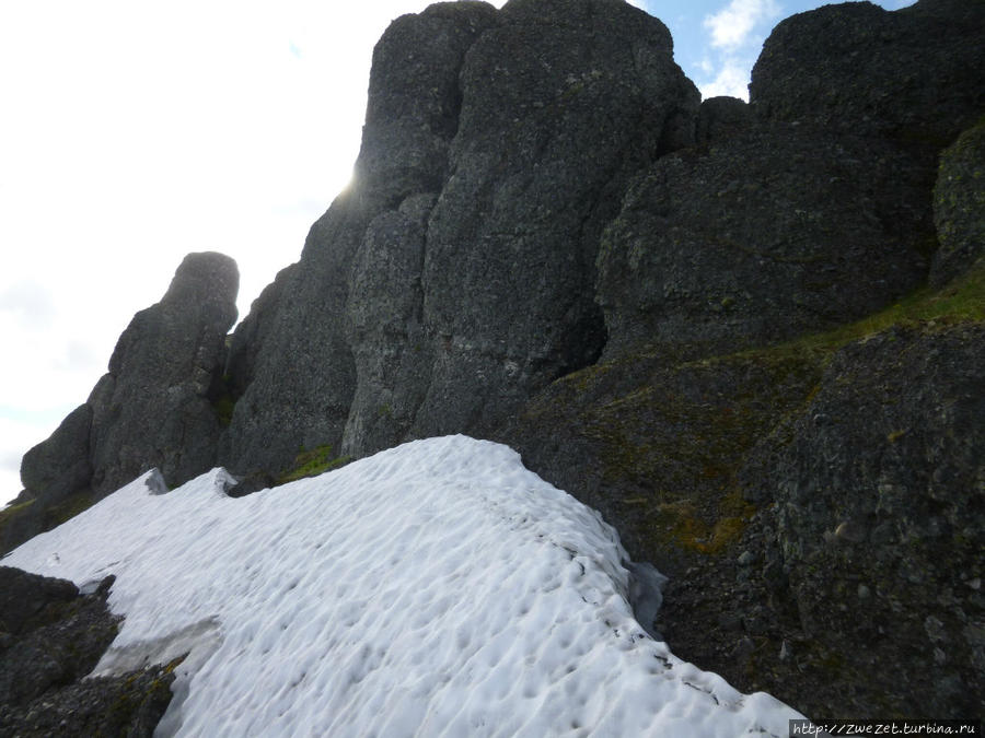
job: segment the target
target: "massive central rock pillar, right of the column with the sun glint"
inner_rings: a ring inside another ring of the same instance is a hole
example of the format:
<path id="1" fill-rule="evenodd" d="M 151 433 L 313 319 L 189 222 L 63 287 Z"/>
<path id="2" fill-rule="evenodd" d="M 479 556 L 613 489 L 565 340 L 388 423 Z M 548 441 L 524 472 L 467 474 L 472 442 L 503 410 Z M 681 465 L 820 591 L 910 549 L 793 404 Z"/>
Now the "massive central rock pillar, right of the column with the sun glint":
<path id="1" fill-rule="evenodd" d="M 360 388 L 347 453 L 486 433 L 594 361 L 605 340 L 591 297 L 599 233 L 630 174 L 694 140 L 698 96 L 667 28 L 622 2 L 514 0 L 457 78 L 437 203 L 429 216 L 418 201 L 379 222 L 356 262 L 355 283 L 378 286 L 349 303 Z M 387 302 L 381 290 L 401 294 Z M 386 304 L 399 311 L 389 327 L 360 332 L 383 311 L 370 306 Z"/>

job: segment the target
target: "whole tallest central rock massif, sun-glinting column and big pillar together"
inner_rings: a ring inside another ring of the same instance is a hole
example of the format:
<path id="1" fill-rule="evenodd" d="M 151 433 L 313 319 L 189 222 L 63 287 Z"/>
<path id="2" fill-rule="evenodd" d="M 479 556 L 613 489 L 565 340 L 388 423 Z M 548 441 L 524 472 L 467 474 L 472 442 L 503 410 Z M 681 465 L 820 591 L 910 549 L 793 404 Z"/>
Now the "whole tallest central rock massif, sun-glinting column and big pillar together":
<path id="1" fill-rule="evenodd" d="M 663 24 L 614 0 L 397 20 L 355 184 L 258 350 L 231 466 L 488 432 L 594 361 L 598 235 L 626 178 L 693 139 L 698 95 L 671 50 Z"/>

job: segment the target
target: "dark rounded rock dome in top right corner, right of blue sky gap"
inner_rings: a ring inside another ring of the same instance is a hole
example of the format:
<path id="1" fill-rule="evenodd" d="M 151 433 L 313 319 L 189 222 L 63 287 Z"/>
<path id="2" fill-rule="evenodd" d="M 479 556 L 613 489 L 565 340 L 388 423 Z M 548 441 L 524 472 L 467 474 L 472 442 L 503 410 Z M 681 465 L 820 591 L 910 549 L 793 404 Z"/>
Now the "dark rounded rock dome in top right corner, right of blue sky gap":
<path id="1" fill-rule="evenodd" d="M 774 28 L 750 104 L 770 120 L 889 136 L 932 160 L 985 112 L 983 38 L 980 0 L 824 5 Z"/>

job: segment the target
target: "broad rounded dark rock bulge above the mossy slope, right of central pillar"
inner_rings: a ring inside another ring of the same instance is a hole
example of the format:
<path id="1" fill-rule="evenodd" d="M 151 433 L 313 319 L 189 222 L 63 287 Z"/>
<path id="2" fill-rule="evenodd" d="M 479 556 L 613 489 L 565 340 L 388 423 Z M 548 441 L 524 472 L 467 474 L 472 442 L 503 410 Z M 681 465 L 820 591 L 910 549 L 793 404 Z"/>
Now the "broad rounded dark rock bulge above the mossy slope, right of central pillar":
<path id="1" fill-rule="evenodd" d="M 919 286 L 923 169 L 895 148 L 763 127 L 661 159 L 603 237 L 606 355 L 702 355 L 873 313 Z"/>

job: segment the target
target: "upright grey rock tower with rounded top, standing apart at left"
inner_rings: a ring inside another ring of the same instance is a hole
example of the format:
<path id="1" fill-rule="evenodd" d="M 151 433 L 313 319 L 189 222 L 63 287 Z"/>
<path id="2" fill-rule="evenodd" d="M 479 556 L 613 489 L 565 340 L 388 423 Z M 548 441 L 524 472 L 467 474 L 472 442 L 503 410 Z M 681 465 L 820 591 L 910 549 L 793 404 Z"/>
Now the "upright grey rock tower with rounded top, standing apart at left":
<path id="1" fill-rule="evenodd" d="M 235 262 L 189 254 L 158 304 L 119 337 L 89 397 L 92 488 L 107 494 L 151 467 L 178 484 L 216 464 L 222 426 L 212 407 L 236 318 Z"/>

